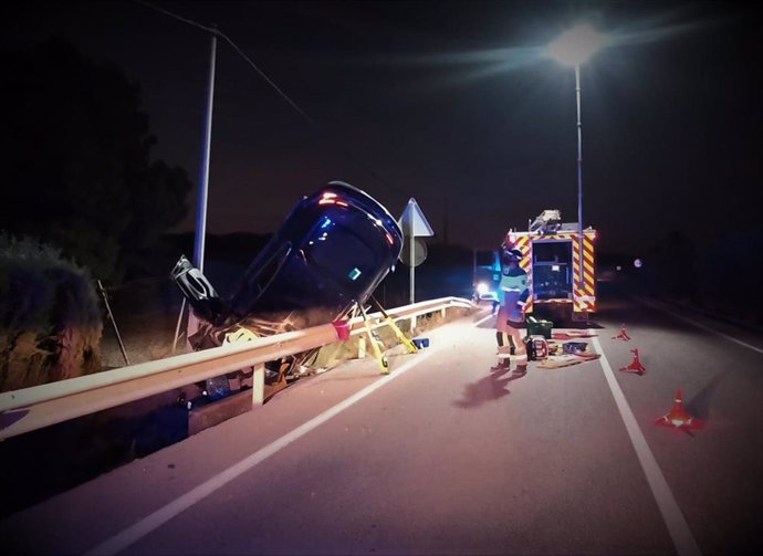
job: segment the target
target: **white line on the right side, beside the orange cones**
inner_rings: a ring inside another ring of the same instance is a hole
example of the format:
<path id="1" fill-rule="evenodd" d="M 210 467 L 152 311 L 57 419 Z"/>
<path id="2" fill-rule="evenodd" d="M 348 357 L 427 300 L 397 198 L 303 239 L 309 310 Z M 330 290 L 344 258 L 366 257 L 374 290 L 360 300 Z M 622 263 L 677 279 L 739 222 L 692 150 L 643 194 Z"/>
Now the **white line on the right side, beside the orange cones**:
<path id="1" fill-rule="evenodd" d="M 647 475 L 647 482 L 649 483 L 651 493 L 660 508 L 662 520 L 665 520 L 665 524 L 668 527 L 668 532 L 670 533 L 670 538 L 672 538 L 673 545 L 676 546 L 676 550 L 679 555 L 702 554 L 699 549 L 697 541 L 694 539 L 694 536 L 691 533 L 691 529 L 689 528 L 689 525 L 683 518 L 681 508 L 678 507 L 678 503 L 676 502 L 672 492 L 670 492 L 668 482 L 665 480 L 665 475 L 662 475 L 662 471 L 657 464 L 655 455 L 651 453 L 651 450 L 644 438 L 641 429 L 639 429 L 638 423 L 636 422 L 634 412 L 630 410 L 630 406 L 628 406 L 628 401 L 625 399 L 620 385 L 617 384 L 615 374 L 613 373 L 609 361 L 602 349 L 602 344 L 598 340 L 598 336 L 595 336 L 596 332 L 588 331 L 588 333 L 594 334 L 592 340 L 594 347 L 596 348 L 596 353 L 602 354 L 599 361 L 602 363 L 602 368 L 604 369 L 604 376 L 607 379 L 612 395 L 615 398 L 617 409 L 620 411 L 620 417 L 623 418 L 625 428 L 630 437 L 630 442 L 634 444 L 634 449 L 636 449 L 636 455 L 638 457 L 638 461 L 641 463 L 641 469 Z"/>

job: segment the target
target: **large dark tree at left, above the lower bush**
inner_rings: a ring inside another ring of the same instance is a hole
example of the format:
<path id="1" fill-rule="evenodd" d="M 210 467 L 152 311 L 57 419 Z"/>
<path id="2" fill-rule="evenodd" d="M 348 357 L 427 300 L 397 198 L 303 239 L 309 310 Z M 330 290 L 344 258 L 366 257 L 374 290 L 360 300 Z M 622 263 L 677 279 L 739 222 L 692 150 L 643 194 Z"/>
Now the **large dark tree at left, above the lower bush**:
<path id="1" fill-rule="evenodd" d="M 143 274 L 187 211 L 186 171 L 150 160 L 140 90 L 63 40 L 3 54 L 0 228 L 55 245 L 93 276 Z"/>

